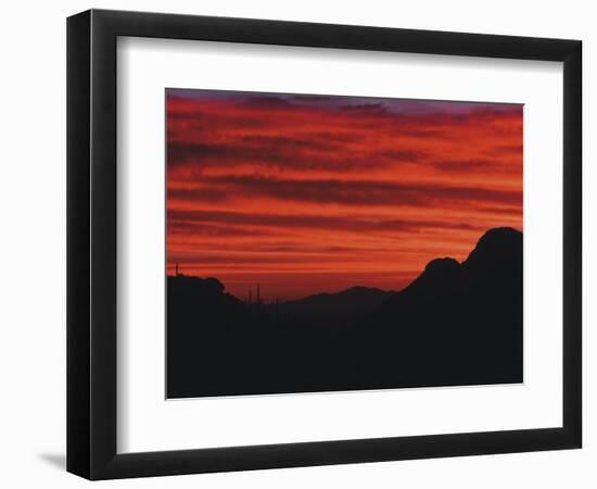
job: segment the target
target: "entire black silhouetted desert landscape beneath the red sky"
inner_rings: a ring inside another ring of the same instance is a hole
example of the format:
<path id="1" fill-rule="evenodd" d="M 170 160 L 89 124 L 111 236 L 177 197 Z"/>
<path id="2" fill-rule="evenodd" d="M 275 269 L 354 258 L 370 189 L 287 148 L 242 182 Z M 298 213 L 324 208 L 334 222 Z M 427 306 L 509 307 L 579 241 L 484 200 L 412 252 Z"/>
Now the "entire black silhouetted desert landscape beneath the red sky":
<path id="1" fill-rule="evenodd" d="M 169 398 L 522 381 L 522 234 L 485 233 L 398 292 L 247 304 L 167 279 Z"/>

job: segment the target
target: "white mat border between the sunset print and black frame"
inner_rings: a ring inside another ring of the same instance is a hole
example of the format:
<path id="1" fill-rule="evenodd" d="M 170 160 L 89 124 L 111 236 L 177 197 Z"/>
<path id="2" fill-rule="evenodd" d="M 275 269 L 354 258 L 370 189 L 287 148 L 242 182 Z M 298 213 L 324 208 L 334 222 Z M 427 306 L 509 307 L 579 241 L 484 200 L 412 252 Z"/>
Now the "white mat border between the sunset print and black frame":
<path id="1" fill-rule="evenodd" d="M 118 53 L 119 452 L 561 426 L 561 63 L 161 39 Z M 164 87 L 524 102 L 524 384 L 165 401 Z"/>

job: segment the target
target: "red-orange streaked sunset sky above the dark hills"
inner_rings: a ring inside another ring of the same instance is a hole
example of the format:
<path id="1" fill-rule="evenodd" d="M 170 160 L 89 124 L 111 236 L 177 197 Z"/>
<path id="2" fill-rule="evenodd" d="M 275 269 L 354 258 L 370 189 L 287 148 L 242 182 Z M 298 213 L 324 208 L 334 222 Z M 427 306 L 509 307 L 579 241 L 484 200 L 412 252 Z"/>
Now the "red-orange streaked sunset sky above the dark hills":
<path id="1" fill-rule="evenodd" d="M 166 91 L 167 261 L 266 301 L 399 290 L 522 230 L 522 105 Z"/>

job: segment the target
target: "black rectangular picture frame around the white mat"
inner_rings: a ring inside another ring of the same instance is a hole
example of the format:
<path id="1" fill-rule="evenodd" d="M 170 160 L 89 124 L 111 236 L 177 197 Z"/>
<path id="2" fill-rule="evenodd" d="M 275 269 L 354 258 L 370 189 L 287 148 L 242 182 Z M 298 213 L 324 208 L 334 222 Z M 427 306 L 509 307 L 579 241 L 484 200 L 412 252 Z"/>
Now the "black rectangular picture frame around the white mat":
<path id="1" fill-rule="evenodd" d="M 509 431 L 116 452 L 118 36 L 563 62 L 563 423 Z M 581 448 L 582 43 L 90 10 L 67 20 L 67 471 L 89 479 Z"/>

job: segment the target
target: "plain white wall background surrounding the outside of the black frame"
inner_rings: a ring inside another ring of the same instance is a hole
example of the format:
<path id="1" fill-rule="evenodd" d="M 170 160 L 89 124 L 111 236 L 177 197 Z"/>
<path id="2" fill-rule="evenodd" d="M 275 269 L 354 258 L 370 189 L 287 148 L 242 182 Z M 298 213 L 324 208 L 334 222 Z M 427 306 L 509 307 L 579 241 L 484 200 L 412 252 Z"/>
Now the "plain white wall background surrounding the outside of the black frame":
<path id="1" fill-rule="evenodd" d="M 421 2 L 22 2 L 4 5 L 1 102 L 0 481 L 5 487 L 78 487 L 63 472 L 65 431 L 65 21 L 89 7 L 584 40 L 584 160 L 595 153 L 589 120 L 597 112 L 595 12 L 584 1 Z M 585 448 L 582 451 L 491 455 L 254 473 L 186 476 L 104 486 L 129 487 L 542 487 L 593 488 L 597 472 L 597 348 L 594 225 L 597 174 L 585 165 Z M 549 278 L 546 272 L 546 279 Z M 590 386 L 593 384 L 593 386 Z"/>

